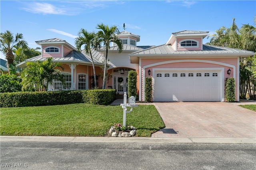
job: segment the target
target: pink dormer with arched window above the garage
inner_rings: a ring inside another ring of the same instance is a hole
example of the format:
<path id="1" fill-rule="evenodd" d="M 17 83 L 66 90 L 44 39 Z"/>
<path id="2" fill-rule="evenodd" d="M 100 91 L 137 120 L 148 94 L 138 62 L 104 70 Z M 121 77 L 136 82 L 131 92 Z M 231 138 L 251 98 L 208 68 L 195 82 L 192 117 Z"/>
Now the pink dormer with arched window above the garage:
<path id="1" fill-rule="evenodd" d="M 175 51 L 201 51 L 203 39 L 208 31 L 180 31 L 172 33 L 166 45 L 171 45 Z"/>

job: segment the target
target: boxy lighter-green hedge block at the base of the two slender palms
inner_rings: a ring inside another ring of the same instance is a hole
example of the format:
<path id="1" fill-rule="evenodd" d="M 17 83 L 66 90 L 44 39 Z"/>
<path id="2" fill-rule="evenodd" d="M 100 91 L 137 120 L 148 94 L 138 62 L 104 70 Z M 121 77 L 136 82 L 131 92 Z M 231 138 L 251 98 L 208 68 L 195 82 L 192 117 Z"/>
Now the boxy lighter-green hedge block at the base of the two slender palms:
<path id="1" fill-rule="evenodd" d="M 85 90 L 83 101 L 87 104 L 107 105 L 112 103 L 116 97 L 115 89 Z"/>

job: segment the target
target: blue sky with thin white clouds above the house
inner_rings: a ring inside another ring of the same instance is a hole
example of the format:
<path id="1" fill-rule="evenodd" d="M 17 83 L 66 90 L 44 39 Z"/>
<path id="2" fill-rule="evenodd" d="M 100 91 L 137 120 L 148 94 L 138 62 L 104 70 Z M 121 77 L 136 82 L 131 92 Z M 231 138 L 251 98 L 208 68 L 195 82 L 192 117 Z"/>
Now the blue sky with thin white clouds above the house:
<path id="1" fill-rule="evenodd" d="M 59 38 L 74 45 L 81 28 L 117 25 L 140 35 L 140 45 L 162 45 L 184 30 L 215 33 L 220 27 L 254 25 L 255 0 L 0 0 L 0 32 L 22 33 L 28 47 Z M 255 26 L 255 25 L 254 25 Z M 204 38 L 203 43 L 210 41 Z M 5 59 L 4 54 L 0 54 Z"/>

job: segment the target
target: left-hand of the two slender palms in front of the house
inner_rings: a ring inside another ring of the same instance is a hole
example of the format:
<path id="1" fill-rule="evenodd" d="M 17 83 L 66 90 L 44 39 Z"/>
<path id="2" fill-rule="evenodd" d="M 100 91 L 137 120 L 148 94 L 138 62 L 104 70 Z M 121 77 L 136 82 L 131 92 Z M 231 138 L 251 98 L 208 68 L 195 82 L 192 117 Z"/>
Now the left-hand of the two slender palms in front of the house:
<path id="1" fill-rule="evenodd" d="M 92 68 L 93 68 L 93 76 L 94 76 L 94 87 L 97 86 L 96 82 L 96 73 L 95 73 L 95 66 L 94 60 L 92 58 L 92 51 L 91 48 L 97 49 L 96 46 L 96 33 L 88 32 L 85 29 L 81 29 L 78 32 L 78 37 L 75 40 L 76 49 L 80 52 L 82 45 L 84 45 L 84 51 L 87 55 L 90 55 L 92 59 Z"/>

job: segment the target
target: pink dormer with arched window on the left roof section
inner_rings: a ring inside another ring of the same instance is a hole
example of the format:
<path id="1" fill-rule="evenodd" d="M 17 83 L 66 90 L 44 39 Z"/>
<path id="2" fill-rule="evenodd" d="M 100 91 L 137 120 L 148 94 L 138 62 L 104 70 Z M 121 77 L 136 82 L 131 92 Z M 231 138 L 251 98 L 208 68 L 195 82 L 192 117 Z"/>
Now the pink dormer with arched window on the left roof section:
<path id="1" fill-rule="evenodd" d="M 75 47 L 58 38 L 36 41 L 36 44 L 41 45 L 42 57 L 64 57 L 70 51 L 76 51 Z"/>

